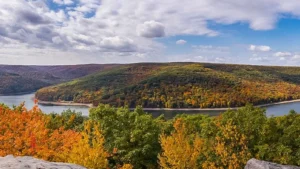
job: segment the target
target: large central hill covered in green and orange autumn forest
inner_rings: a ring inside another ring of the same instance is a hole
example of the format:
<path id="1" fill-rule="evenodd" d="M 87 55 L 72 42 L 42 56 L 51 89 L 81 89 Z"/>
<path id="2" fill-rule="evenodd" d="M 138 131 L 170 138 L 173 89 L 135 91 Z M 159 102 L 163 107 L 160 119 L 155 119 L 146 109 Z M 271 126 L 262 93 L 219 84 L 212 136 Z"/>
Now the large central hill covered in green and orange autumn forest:
<path id="1" fill-rule="evenodd" d="M 38 90 L 43 101 L 161 108 L 234 107 L 300 98 L 300 67 L 139 63 Z"/>

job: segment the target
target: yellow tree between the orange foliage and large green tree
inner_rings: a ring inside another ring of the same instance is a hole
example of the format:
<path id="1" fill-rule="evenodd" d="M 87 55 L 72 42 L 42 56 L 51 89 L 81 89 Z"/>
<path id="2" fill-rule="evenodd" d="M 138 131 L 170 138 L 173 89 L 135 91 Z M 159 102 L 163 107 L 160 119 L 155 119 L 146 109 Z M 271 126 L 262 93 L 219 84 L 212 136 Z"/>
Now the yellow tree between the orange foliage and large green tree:
<path id="1" fill-rule="evenodd" d="M 107 168 L 107 153 L 104 150 L 104 137 L 99 124 L 88 121 L 82 139 L 73 146 L 68 158 L 70 163 L 79 164 L 90 169 Z"/>

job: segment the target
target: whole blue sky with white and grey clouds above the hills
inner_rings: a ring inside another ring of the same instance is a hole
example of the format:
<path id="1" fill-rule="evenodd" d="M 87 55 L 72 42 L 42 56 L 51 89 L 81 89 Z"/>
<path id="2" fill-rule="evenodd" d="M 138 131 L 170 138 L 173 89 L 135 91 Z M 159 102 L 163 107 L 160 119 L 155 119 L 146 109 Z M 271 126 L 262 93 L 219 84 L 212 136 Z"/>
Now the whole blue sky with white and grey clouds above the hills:
<path id="1" fill-rule="evenodd" d="M 300 65 L 300 0 L 1 0 L 0 64 Z"/>

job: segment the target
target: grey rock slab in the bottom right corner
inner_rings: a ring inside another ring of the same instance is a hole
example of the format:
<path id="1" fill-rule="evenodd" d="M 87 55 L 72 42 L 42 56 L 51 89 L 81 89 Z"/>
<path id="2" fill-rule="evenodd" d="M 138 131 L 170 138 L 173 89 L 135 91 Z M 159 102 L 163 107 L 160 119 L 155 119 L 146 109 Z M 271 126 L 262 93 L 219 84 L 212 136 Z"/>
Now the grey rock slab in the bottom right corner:
<path id="1" fill-rule="evenodd" d="M 280 164 L 256 160 L 252 158 L 247 162 L 245 169 L 300 169 L 300 167 L 280 165 Z"/>

